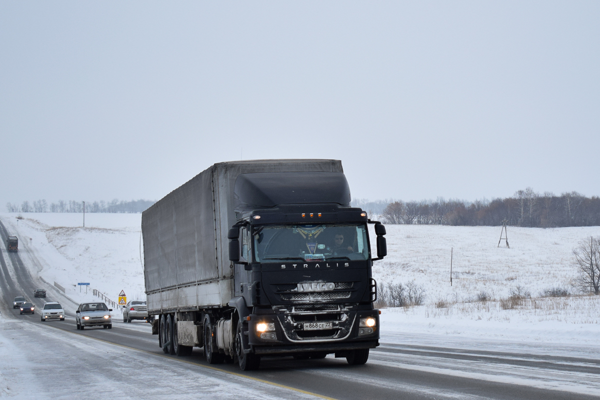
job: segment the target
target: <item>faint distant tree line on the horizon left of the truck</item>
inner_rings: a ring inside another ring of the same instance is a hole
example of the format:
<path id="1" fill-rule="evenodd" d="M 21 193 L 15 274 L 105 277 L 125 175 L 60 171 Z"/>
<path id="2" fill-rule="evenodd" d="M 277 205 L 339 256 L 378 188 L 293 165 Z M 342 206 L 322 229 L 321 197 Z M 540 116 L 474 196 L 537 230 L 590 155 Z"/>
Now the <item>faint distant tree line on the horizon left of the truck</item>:
<path id="1" fill-rule="evenodd" d="M 154 204 L 150 200 L 131 200 L 124 201 L 113 199 L 112 201 L 86 201 L 85 212 L 142 212 Z M 7 203 L 8 212 L 83 212 L 83 201 L 59 200 L 56 203 L 48 204 L 46 200 L 35 200 L 29 203 L 25 200 L 20 205 L 17 203 Z"/>

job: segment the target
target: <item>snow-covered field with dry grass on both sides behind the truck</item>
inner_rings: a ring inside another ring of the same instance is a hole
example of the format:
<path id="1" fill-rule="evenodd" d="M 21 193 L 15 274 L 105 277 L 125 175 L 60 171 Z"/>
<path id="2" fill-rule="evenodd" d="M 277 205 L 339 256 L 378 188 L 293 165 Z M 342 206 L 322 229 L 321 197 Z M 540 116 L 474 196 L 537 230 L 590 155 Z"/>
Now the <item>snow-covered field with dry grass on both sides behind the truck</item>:
<path id="1" fill-rule="evenodd" d="M 16 232 L 24 262 L 31 254 L 47 282 L 65 287 L 76 302 L 85 298 L 77 282 L 116 300 L 143 297 L 140 214 L 0 213 Z M 600 227 L 508 228 L 511 248 L 497 247 L 500 227 L 388 225 L 388 257 L 376 261 L 379 285 L 413 281 L 425 289 L 421 306 L 386 308 L 382 341 L 406 341 L 431 335 L 443 340 L 501 338 L 517 342 L 591 343 L 600 335 L 600 296 L 540 297 L 554 287 L 572 290 L 576 270 L 572 249 Z M 31 243 L 28 238 L 31 237 Z M 450 285 L 450 257 L 453 282 Z M 529 291 L 512 309 L 503 309 L 517 287 Z M 486 293 L 487 302 L 475 301 Z M 89 294 L 88 294 L 89 296 Z M 441 306 L 441 307 L 440 307 Z"/>

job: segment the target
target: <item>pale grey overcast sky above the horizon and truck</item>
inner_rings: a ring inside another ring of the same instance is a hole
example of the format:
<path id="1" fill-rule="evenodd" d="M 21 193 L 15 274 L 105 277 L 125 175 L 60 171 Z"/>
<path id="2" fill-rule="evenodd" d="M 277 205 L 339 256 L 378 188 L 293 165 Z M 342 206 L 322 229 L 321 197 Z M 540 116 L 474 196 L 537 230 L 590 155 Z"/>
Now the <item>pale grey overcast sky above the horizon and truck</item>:
<path id="1" fill-rule="evenodd" d="M 220 161 L 354 198 L 600 195 L 600 2 L 0 2 L 0 210 Z"/>

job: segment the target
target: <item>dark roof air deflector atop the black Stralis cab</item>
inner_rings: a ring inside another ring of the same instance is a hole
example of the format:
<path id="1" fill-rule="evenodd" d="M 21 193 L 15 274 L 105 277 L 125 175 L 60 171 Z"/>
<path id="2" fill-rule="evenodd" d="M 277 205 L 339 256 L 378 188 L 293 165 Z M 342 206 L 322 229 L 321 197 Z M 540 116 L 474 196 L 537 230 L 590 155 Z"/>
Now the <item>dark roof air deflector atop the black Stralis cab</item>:
<path id="1" fill-rule="evenodd" d="M 238 176 L 236 209 L 278 204 L 337 203 L 350 206 L 350 187 L 341 172 L 257 172 Z"/>

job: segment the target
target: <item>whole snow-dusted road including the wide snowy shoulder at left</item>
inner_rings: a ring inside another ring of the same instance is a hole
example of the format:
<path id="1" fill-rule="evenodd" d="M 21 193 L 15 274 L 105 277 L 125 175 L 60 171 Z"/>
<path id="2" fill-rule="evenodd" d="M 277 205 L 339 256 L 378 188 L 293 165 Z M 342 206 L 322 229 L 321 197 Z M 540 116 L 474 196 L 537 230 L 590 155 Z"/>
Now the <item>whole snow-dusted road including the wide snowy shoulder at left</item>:
<path id="1" fill-rule="evenodd" d="M 4 242 L 3 225 L 0 236 Z M 66 399 L 79 389 L 81 395 L 125 399 L 232 398 L 232 393 L 249 399 L 585 399 L 600 393 L 596 351 L 569 348 L 554 354 L 500 342 L 440 347 L 432 344 L 434 338 L 423 338 L 422 344 L 419 338 L 394 338 L 395 343 L 383 339 L 364 366 L 328 356 L 266 358 L 253 372 L 227 364 L 213 368 L 202 359 L 202 349 L 190 357 L 167 356 L 142 322 L 76 330 L 76 305 L 44 284 L 37 266 L 0 248 L 0 396 Z M 37 287 L 46 288 L 49 297 L 31 299 Z M 41 323 L 38 315 L 19 315 L 10 306 L 19 294 L 38 307 L 58 300 L 69 317 Z"/>

